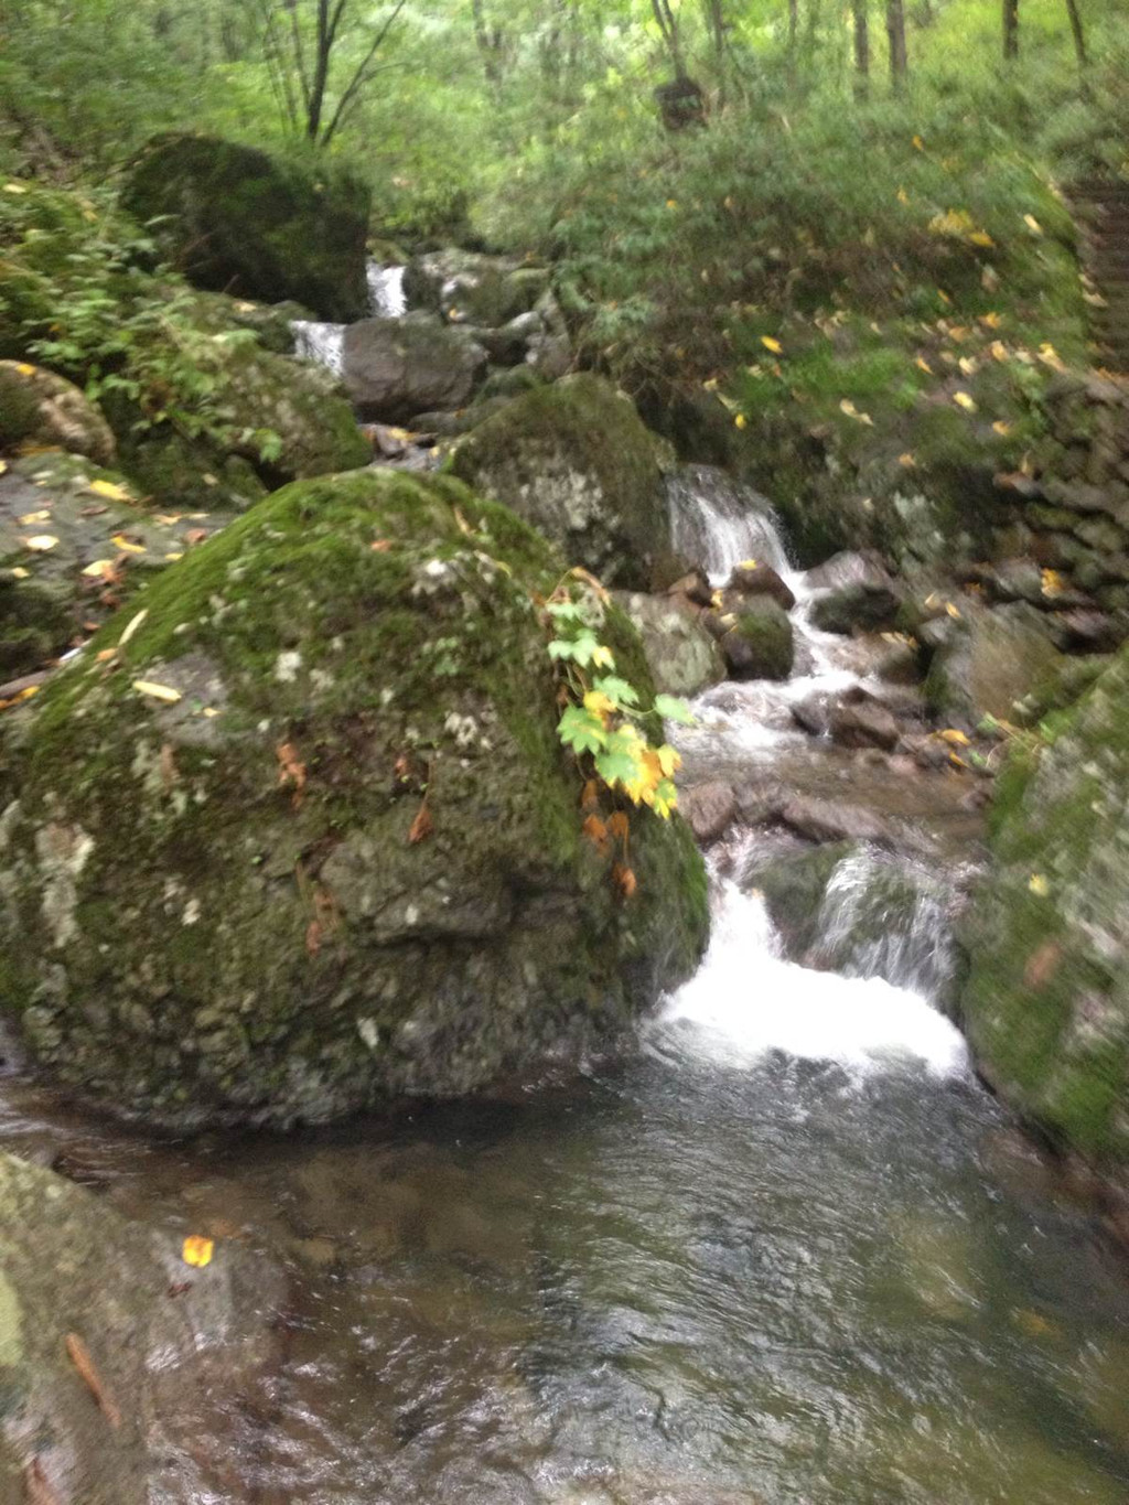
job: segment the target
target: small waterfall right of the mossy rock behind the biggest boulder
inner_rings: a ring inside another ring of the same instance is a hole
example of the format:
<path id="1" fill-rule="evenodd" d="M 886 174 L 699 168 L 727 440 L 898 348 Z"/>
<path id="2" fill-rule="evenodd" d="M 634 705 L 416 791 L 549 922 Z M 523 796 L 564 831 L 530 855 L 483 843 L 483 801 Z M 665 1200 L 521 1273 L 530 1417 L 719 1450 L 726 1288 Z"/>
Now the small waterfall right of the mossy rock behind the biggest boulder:
<path id="1" fill-rule="evenodd" d="M 790 569 L 772 504 L 714 465 L 682 465 L 667 477 L 676 552 L 724 581 L 735 564 L 757 558 L 781 575 Z"/>

